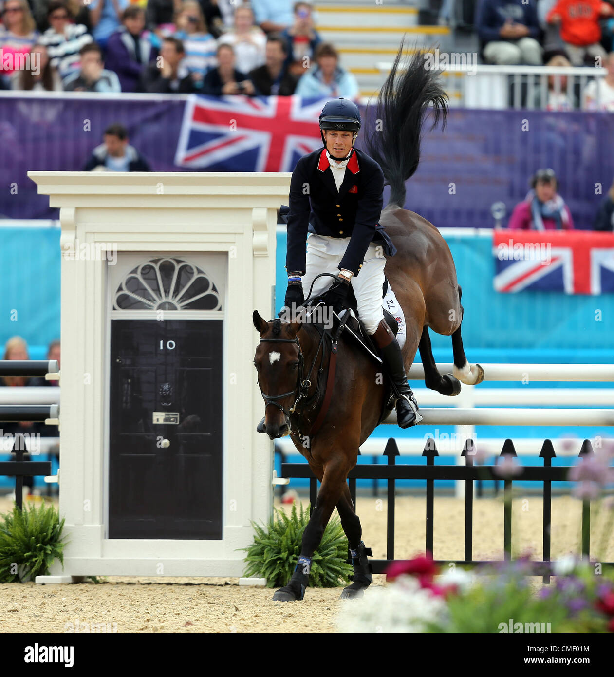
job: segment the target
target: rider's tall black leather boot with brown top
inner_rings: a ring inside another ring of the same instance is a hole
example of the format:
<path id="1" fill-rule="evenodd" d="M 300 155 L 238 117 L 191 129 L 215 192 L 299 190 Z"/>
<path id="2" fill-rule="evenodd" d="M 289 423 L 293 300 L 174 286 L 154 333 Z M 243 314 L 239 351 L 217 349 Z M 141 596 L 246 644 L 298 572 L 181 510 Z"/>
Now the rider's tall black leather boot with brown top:
<path id="1" fill-rule="evenodd" d="M 395 393 L 395 409 L 397 410 L 397 422 L 399 428 L 409 428 L 422 420 L 419 413 L 418 402 L 412 393 L 408 383 L 403 355 L 397 341 L 386 320 L 382 320 L 374 334 L 373 340 L 379 349 L 383 366 L 390 377 L 393 392 Z"/>

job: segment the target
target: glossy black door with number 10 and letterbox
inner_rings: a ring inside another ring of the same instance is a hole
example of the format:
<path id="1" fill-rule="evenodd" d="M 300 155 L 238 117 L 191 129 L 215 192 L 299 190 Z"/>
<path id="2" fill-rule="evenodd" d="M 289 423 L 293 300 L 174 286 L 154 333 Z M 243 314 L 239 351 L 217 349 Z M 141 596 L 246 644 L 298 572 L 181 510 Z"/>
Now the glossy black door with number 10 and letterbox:
<path id="1" fill-rule="evenodd" d="M 221 320 L 112 320 L 109 538 L 222 538 Z"/>

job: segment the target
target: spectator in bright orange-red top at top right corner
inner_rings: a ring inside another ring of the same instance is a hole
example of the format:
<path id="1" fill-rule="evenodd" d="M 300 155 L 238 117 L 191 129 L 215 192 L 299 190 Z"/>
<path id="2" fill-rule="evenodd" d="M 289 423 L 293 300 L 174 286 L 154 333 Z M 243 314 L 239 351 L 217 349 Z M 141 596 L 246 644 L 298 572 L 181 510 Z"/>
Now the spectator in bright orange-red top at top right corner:
<path id="1" fill-rule="evenodd" d="M 565 51 L 574 66 L 584 66 L 584 59 L 600 56 L 606 51 L 600 45 L 600 18 L 612 16 L 614 9 L 601 0 L 558 0 L 546 19 L 549 24 L 558 24 Z"/>

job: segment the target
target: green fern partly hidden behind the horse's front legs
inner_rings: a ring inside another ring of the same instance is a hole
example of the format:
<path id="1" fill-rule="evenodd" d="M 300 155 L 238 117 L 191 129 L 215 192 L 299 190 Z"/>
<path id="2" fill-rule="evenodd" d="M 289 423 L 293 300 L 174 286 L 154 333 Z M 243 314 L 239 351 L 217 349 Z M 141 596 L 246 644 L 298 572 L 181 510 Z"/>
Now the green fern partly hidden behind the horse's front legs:
<path id="1" fill-rule="evenodd" d="M 248 548 L 244 561 L 246 576 L 266 578 L 267 588 L 285 586 L 301 554 L 303 531 L 309 522 L 311 505 L 297 515 L 297 506 L 292 504 L 290 515 L 273 508 L 269 522 L 262 527 L 252 522 L 255 537 Z M 324 529 L 322 542 L 311 559 L 310 588 L 336 588 L 349 583 L 353 568 L 347 563 L 347 538 L 338 517 L 330 519 Z"/>

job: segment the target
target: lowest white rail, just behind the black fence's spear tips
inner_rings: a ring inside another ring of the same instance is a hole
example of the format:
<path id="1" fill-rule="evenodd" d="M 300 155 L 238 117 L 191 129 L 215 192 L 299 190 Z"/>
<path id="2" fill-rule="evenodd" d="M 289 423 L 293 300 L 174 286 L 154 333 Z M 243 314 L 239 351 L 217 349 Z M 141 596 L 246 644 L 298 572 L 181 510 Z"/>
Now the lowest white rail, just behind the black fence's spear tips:
<path id="1" fill-rule="evenodd" d="M 424 437 L 397 437 L 397 448 L 401 456 L 420 456 L 424 451 L 424 445 L 428 437 L 434 437 L 435 446 L 439 456 L 460 456 L 460 452 L 464 447 L 464 443 L 468 438 L 460 435 L 441 435 L 425 434 Z M 475 435 L 473 438 L 476 448 L 479 449 L 480 454 L 484 453 L 487 456 L 499 456 L 503 448 L 504 438 L 502 437 L 479 437 Z M 591 440 L 593 445 L 596 441 Z M 370 437 L 360 447 L 362 456 L 382 456 L 386 447 L 386 437 Z M 600 444 L 614 443 L 614 438 L 602 437 L 599 440 Z M 544 439 L 538 437 L 527 437 L 525 439 L 514 439 L 514 449 L 517 454 L 523 456 L 539 456 L 542 451 Z M 276 445 L 284 454 L 298 454 L 297 447 L 294 446 L 290 437 L 283 437 L 276 440 Z M 576 457 L 579 454 L 582 446 L 582 439 L 578 437 L 558 437 L 552 440 L 554 453 L 559 458 Z"/>

